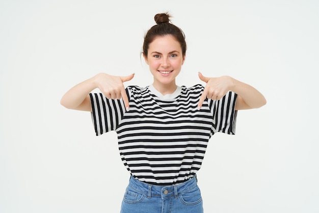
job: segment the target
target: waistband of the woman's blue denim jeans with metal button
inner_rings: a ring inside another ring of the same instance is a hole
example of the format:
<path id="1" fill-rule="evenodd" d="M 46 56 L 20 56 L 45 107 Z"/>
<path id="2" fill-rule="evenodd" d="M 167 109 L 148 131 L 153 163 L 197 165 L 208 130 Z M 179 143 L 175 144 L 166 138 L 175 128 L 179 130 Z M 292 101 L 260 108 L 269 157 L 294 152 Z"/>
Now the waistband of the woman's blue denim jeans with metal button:
<path id="1" fill-rule="evenodd" d="M 178 194 L 186 193 L 197 187 L 197 179 L 195 175 L 194 177 L 182 183 L 167 186 L 158 186 L 141 182 L 135 179 L 133 176 L 130 176 L 128 187 L 141 194 L 146 195 L 148 198 L 162 197 L 162 199 L 165 199 L 167 197 L 173 196 L 175 198 L 178 198 Z"/>

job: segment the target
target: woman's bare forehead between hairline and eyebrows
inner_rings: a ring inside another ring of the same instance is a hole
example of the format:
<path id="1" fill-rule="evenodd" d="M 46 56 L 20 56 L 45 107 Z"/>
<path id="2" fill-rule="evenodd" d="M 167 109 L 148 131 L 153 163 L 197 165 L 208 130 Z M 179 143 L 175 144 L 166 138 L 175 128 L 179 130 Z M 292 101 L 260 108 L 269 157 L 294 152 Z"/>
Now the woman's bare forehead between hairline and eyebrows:
<path id="1" fill-rule="evenodd" d="M 172 35 L 157 36 L 149 44 L 149 52 L 172 52 L 178 51 L 181 52 L 180 43 Z"/>

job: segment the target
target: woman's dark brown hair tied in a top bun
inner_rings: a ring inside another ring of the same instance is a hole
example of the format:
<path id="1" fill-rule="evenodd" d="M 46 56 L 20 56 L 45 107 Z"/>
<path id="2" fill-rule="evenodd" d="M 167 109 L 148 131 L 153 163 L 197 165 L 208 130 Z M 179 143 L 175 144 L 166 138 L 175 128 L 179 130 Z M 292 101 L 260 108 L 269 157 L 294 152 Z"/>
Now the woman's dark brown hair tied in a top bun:
<path id="1" fill-rule="evenodd" d="M 170 17 L 172 17 L 168 13 L 158 13 L 154 16 L 154 20 L 156 25 L 151 27 L 144 37 L 143 43 L 143 54 L 147 57 L 149 44 L 158 36 L 172 35 L 174 38 L 180 43 L 180 47 L 182 50 L 182 55 L 186 54 L 186 41 L 184 32 L 170 23 Z"/>

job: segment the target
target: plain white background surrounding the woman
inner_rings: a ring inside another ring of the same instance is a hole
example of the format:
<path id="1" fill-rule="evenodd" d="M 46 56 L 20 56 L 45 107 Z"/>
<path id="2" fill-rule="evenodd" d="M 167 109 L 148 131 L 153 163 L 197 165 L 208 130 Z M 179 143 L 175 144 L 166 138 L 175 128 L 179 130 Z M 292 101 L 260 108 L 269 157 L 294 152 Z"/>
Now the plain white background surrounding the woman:
<path id="1" fill-rule="evenodd" d="M 129 174 L 116 134 L 60 105 L 99 72 L 152 77 L 140 58 L 156 13 L 188 42 L 179 85 L 230 75 L 267 98 L 216 134 L 198 172 L 205 212 L 319 212 L 319 3 L 0 1 L 0 212 L 119 212 Z"/>

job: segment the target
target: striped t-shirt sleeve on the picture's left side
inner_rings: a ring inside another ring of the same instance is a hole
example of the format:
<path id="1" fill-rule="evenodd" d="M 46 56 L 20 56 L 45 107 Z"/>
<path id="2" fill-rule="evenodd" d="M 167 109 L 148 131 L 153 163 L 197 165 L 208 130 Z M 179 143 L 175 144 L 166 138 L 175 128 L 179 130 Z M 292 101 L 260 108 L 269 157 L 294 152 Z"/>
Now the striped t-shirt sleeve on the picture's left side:
<path id="1" fill-rule="evenodd" d="M 123 100 L 107 99 L 103 93 L 90 93 L 90 99 L 96 135 L 115 130 L 125 112 Z"/>

